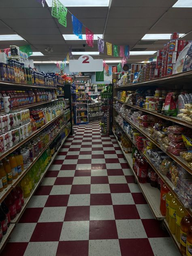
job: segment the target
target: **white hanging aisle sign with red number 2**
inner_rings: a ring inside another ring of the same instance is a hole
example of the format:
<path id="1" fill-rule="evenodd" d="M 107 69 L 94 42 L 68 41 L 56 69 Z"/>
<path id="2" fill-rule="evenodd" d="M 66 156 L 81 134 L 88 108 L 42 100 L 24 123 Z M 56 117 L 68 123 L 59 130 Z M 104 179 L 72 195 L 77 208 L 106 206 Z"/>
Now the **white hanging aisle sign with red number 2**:
<path id="1" fill-rule="evenodd" d="M 70 72 L 103 71 L 103 60 L 94 60 L 90 55 L 81 55 L 78 60 L 69 60 Z"/>

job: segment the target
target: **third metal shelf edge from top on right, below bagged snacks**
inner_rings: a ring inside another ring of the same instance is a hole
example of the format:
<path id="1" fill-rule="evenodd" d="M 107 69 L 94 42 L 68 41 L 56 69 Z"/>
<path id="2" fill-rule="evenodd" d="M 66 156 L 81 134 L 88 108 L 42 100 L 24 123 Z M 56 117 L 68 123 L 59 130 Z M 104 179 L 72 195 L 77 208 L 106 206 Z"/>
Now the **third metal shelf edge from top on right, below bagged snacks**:
<path id="1" fill-rule="evenodd" d="M 115 111 L 117 111 L 115 109 Z M 118 111 L 117 113 L 119 115 L 121 115 Z M 122 116 L 122 115 L 121 115 Z M 139 126 L 137 126 L 136 124 L 134 124 L 132 121 L 130 121 L 129 119 L 127 119 L 126 117 L 122 116 L 129 124 L 131 124 L 134 128 L 136 128 L 139 132 L 141 132 L 143 135 L 145 135 L 145 137 L 147 137 L 147 139 L 149 139 L 150 141 L 152 141 L 157 147 L 159 147 L 162 151 L 164 151 L 168 156 L 170 156 L 175 162 L 177 162 L 179 165 L 181 165 L 186 171 L 188 171 L 190 174 L 192 174 L 192 169 L 190 169 L 187 165 L 187 162 L 185 160 L 183 160 L 180 156 L 175 156 L 173 154 L 171 154 L 168 151 L 165 151 L 161 145 L 156 142 L 154 139 L 152 139 L 150 137 L 150 135 L 145 132 L 142 128 L 140 128 Z"/>

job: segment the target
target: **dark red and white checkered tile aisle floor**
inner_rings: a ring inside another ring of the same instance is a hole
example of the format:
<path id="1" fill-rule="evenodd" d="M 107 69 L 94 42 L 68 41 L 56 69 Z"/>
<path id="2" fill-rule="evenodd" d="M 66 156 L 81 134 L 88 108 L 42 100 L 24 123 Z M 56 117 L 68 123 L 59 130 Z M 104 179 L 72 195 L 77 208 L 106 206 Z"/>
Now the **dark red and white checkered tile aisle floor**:
<path id="1" fill-rule="evenodd" d="M 74 128 L 1 256 L 179 256 L 115 137 Z"/>

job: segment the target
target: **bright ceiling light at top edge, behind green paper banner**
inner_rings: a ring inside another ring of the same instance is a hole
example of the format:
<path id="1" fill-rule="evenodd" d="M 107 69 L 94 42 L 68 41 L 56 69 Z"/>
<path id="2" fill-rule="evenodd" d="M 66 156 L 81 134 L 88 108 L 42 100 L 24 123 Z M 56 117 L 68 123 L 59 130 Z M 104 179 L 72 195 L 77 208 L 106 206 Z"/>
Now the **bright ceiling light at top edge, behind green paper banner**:
<path id="1" fill-rule="evenodd" d="M 52 0 L 46 0 L 49 7 L 52 6 Z M 109 0 L 60 0 L 66 7 L 98 7 L 109 6 Z"/>

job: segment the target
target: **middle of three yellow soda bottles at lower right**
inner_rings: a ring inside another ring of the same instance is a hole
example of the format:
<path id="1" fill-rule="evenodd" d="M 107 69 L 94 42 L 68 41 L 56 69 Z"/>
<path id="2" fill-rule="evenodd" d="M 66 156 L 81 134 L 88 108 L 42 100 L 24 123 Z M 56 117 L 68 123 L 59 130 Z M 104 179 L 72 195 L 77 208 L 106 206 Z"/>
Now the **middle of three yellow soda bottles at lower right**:
<path id="1" fill-rule="evenodd" d="M 176 230 L 176 209 L 179 206 L 179 201 L 176 198 L 172 198 L 169 202 L 169 229 L 173 235 Z"/>

